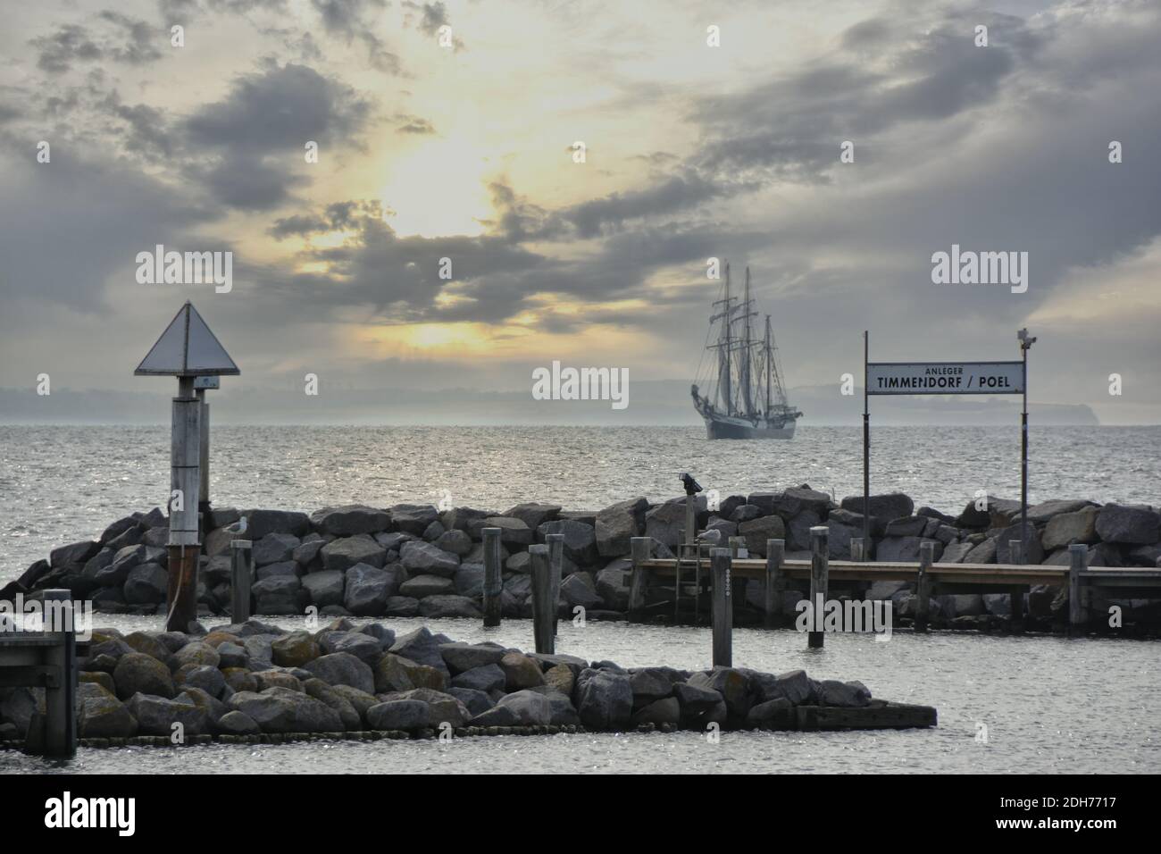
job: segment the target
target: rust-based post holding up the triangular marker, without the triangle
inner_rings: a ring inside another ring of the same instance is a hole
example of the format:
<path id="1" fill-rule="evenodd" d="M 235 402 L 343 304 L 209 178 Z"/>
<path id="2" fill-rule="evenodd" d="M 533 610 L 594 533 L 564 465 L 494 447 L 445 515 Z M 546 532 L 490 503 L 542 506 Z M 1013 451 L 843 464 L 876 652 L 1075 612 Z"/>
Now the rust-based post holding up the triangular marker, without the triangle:
<path id="1" fill-rule="evenodd" d="M 178 378 L 173 399 L 170 439 L 170 583 L 166 631 L 189 631 L 197 619 L 197 568 L 201 541 L 197 532 L 197 505 L 201 476 L 202 408 L 194 395 L 194 378 Z"/>

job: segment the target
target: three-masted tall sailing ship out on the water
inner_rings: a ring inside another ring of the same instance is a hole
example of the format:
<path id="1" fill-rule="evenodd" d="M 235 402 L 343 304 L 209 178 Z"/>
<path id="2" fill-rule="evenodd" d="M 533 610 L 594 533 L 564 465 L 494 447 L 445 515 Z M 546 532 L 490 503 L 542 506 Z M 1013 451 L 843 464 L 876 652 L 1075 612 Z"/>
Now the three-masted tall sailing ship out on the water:
<path id="1" fill-rule="evenodd" d="M 760 339 L 753 337 L 752 320 L 757 316 L 750 299 L 750 268 L 745 268 L 745 287 L 738 299 L 730 293 L 727 264 L 723 296 L 713 303 L 706 339 L 706 350 L 715 356 L 702 358 L 691 389 L 693 408 L 706 422 L 707 438 L 794 438 L 802 412 L 786 401 L 770 315 Z M 705 395 L 700 388 L 706 389 Z"/>

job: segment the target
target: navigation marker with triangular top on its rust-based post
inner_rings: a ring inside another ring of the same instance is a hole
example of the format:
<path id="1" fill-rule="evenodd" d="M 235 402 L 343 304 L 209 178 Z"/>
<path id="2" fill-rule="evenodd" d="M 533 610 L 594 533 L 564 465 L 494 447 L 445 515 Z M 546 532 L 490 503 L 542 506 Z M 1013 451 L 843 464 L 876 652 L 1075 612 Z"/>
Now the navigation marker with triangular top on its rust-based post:
<path id="1" fill-rule="evenodd" d="M 238 373 L 233 359 L 189 301 L 134 372 L 137 376 L 178 378 L 170 438 L 166 631 L 187 631 L 189 624 L 197 619 L 199 509 L 202 505 L 203 465 L 207 469 L 209 466 L 208 424 L 202 417 L 204 392 L 195 390 L 197 378 Z"/>

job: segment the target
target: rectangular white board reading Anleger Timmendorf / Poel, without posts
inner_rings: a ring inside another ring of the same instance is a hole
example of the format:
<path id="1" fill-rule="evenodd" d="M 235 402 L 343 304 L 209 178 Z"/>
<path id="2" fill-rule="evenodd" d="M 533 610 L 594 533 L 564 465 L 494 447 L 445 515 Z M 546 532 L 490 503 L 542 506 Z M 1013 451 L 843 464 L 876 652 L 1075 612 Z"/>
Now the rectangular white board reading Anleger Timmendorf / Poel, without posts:
<path id="1" fill-rule="evenodd" d="M 1022 361 L 870 361 L 867 394 L 1023 394 Z"/>

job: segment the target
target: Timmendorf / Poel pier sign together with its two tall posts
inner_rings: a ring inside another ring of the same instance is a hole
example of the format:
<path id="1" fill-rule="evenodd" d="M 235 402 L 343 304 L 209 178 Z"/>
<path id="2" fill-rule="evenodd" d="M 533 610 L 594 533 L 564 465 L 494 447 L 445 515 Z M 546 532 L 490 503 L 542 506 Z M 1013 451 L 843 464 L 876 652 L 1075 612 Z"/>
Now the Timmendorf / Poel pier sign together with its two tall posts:
<path id="1" fill-rule="evenodd" d="M 867 359 L 863 332 L 863 536 L 870 548 L 871 415 L 867 395 L 1021 394 L 1021 544 L 1027 554 L 1027 350 L 1036 342 L 1027 330 L 1017 333 L 1021 361 L 878 361 Z M 1023 559 L 1022 559 L 1023 560 Z"/>

